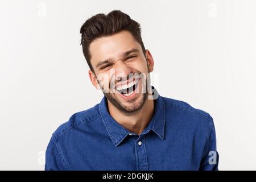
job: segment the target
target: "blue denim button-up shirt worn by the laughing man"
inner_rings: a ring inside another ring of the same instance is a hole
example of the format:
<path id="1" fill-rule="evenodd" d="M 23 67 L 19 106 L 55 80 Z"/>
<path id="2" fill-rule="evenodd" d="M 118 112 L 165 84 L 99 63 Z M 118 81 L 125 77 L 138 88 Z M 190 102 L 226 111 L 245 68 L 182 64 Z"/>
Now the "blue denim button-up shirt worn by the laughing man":
<path id="1" fill-rule="evenodd" d="M 213 119 L 186 102 L 159 96 L 154 117 L 137 135 L 111 117 L 104 97 L 52 134 L 45 169 L 217 170 Z"/>

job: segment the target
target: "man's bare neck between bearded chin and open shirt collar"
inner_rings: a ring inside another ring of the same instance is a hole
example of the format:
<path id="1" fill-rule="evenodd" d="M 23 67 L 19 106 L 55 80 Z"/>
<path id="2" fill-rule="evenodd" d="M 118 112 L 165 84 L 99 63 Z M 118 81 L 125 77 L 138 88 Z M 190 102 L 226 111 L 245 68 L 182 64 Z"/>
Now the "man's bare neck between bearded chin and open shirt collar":
<path id="1" fill-rule="evenodd" d="M 154 100 L 148 100 L 148 98 L 142 106 L 141 110 L 131 115 L 122 113 L 109 101 L 108 107 L 109 114 L 115 119 L 115 121 L 117 121 L 127 130 L 138 135 L 141 134 L 142 131 L 147 127 L 148 123 L 154 115 Z"/>

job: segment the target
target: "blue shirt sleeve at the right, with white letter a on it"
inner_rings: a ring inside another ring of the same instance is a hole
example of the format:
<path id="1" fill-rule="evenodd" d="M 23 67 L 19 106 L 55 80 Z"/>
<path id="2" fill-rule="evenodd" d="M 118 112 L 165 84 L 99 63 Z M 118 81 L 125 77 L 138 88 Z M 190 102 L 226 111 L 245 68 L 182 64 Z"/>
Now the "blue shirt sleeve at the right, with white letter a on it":
<path id="1" fill-rule="evenodd" d="M 209 137 L 204 147 L 204 155 L 201 159 L 200 170 L 202 171 L 218 171 L 218 152 L 216 148 L 216 133 L 213 124 L 213 118 L 210 118 Z"/>

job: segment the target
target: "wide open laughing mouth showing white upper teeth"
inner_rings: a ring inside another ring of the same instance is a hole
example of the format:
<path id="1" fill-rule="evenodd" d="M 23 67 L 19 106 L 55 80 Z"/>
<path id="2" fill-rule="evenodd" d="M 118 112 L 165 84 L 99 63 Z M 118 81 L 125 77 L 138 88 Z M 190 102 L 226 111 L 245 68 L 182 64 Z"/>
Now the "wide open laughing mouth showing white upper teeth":
<path id="1" fill-rule="evenodd" d="M 121 93 L 123 96 L 130 96 L 133 94 L 138 86 L 139 78 L 133 79 L 129 84 L 123 84 L 117 86 L 117 92 Z"/>

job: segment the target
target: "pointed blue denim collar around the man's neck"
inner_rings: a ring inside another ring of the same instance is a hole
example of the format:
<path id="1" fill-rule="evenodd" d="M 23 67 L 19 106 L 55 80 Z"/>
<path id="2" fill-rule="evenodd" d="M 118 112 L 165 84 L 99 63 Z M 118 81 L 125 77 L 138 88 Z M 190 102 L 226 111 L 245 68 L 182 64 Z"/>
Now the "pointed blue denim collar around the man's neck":
<path id="1" fill-rule="evenodd" d="M 165 125 L 165 110 L 163 98 L 158 94 L 157 90 L 152 86 L 152 90 L 154 90 L 154 95 L 157 94 L 158 98 L 154 103 L 154 116 L 152 117 L 150 123 L 143 130 L 142 134 L 148 133 L 150 130 L 154 131 L 161 139 L 164 138 L 164 125 Z M 112 142 L 117 147 L 123 139 L 130 134 L 130 131 L 125 127 L 120 125 L 114 118 L 109 114 L 108 111 L 108 101 L 104 96 L 100 102 L 100 114 L 102 121 L 108 131 L 109 137 L 112 139 Z"/>

